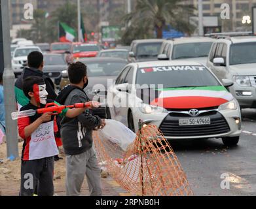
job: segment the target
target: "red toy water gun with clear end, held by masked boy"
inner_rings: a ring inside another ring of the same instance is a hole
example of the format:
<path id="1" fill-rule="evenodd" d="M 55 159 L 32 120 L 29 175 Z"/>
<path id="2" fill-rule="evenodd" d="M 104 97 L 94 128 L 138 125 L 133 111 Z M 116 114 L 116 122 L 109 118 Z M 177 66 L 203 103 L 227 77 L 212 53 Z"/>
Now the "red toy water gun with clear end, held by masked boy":
<path id="1" fill-rule="evenodd" d="M 17 120 L 19 118 L 26 118 L 29 116 L 34 116 L 35 114 L 44 114 L 46 112 L 52 112 L 52 115 L 58 115 L 62 113 L 62 110 L 65 108 L 99 108 L 100 103 L 97 102 L 88 102 L 88 103 L 77 103 L 75 105 L 57 105 L 56 103 L 48 103 L 45 108 L 40 108 L 37 110 L 25 110 L 12 112 L 12 120 Z"/>

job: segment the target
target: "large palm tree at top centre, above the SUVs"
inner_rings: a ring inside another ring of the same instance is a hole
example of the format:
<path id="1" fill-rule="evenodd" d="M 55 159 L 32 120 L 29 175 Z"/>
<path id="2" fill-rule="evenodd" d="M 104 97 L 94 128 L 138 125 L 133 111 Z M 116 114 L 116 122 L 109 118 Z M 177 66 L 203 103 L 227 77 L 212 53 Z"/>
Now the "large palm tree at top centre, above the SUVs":
<path id="1" fill-rule="evenodd" d="M 124 16 L 126 23 L 149 23 L 156 29 L 156 36 L 162 39 L 162 31 L 167 24 L 185 33 L 192 33 L 189 15 L 194 7 L 184 0 L 137 0 L 134 12 Z"/>

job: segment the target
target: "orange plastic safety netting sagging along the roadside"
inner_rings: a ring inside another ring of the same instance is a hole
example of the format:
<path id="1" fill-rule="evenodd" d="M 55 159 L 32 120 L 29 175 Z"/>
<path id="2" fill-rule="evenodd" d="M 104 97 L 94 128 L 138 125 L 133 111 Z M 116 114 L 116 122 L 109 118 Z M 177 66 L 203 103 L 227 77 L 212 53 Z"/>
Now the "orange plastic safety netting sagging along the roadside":
<path id="1" fill-rule="evenodd" d="M 174 150 L 156 126 L 142 127 L 126 152 L 97 131 L 94 132 L 94 143 L 99 161 L 130 193 L 141 196 L 192 195 Z"/>

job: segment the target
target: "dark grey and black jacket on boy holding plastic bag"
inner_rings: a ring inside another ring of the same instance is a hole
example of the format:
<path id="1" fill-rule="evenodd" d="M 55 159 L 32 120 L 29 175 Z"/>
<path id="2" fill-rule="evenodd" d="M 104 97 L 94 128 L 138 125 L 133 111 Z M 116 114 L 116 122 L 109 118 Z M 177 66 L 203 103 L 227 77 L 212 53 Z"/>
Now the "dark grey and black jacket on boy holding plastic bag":
<path id="1" fill-rule="evenodd" d="M 61 105 L 74 105 L 75 103 L 86 103 L 89 99 L 82 89 L 67 86 L 60 92 L 56 101 Z M 65 154 L 79 155 L 92 148 L 92 131 L 101 125 L 101 119 L 98 116 L 93 116 L 90 110 L 86 110 L 76 118 L 63 118 L 61 125 Z"/>

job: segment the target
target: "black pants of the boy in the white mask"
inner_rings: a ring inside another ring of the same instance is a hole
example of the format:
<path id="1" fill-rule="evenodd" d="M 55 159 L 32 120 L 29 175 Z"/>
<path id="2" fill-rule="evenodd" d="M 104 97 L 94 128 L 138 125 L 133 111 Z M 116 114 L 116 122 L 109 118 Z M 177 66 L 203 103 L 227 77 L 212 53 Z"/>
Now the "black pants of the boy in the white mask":
<path id="1" fill-rule="evenodd" d="M 22 161 L 20 196 L 53 196 L 54 157 Z"/>

